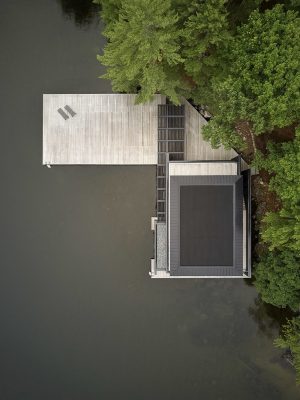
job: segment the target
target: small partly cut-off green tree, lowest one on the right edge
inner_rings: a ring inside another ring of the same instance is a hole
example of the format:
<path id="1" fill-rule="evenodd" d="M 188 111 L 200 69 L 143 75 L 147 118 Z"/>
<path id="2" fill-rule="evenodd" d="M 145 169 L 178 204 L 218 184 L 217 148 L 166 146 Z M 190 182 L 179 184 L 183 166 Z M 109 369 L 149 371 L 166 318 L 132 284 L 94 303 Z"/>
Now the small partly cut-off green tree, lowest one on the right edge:
<path id="1" fill-rule="evenodd" d="M 283 326 L 282 334 L 275 340 L 275 346 L 289 349 L 296 369 L 296 381 L 300 384 L 300 317 L 295 317 Z"/>

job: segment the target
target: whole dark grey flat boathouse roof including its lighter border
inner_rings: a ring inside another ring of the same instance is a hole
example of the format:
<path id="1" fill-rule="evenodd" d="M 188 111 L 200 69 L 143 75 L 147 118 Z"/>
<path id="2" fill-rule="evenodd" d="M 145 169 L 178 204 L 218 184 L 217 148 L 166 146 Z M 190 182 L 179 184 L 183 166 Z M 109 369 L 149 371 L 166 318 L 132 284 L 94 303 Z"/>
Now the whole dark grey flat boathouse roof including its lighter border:
<path id="1" fill-rule="evenodd" d="M 170 176 L 173 276 L 243 275 L 243 177 Z"/>

